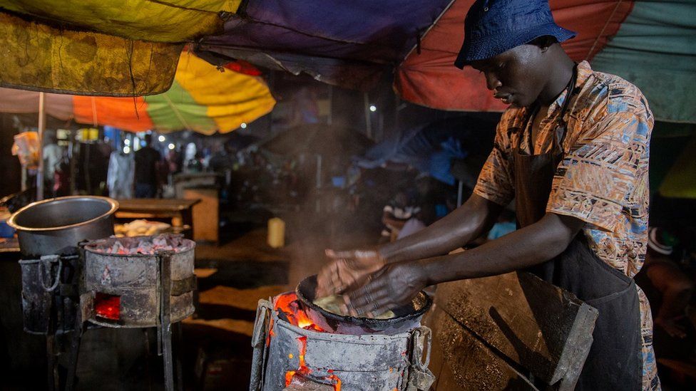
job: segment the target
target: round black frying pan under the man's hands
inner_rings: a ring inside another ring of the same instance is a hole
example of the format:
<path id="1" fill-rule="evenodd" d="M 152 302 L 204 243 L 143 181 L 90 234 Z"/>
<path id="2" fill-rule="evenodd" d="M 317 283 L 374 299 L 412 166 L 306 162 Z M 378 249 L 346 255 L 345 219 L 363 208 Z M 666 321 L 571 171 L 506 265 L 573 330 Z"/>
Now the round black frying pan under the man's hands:
<path id="1" fill-rule="evenodd" d="M 421 318 L 430 309 L 432 299 L 425 292 L 419 292 L 411 303 L 399 308 L 392 308 L 395 317 L 390 319 L 356 318 L 330 313 L 313 303 L 317 290 L 317 276 L 309 276 L 300 281 L 295 288 L 297 298 L 307 317 L 315 325 L 338 334 L 387 334 L 406 333 L 418 327 Z"/>

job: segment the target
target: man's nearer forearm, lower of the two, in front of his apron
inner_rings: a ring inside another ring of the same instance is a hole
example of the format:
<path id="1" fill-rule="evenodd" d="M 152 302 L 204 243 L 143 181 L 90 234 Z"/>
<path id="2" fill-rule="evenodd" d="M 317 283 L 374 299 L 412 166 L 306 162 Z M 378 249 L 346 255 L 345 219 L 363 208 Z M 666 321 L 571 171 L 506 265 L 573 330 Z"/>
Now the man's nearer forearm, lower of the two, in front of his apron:
<path id="1" fill-rule="evenodd" d="M 427 285 L 525 269 L 561 254 L 582 227 L 573 217 L 547 214 L 536 224 L 459 254 L 414 261 Z"/>

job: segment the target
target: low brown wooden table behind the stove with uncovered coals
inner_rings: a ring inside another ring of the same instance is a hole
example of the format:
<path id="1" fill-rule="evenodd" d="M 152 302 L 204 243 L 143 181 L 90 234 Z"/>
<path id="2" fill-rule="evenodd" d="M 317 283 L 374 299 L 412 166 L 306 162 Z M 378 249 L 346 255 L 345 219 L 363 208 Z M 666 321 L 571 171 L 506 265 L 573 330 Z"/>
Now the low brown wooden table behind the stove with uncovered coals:
<path id="1" fill-rule="evenodd" d="M 117 219 L 171 219 L 172 226 L 190 226 L 193 231 L 193 205 L 200 199 L 131 198 L 118 199 Z"/>

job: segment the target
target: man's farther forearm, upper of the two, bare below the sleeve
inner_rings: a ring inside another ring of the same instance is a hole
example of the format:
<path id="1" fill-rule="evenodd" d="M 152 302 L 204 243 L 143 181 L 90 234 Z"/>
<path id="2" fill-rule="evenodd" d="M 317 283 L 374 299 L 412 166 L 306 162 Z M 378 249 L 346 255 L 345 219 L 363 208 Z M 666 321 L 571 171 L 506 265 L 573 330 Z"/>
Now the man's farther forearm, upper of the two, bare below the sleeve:
<path id="1" fill-rule="evenodd" d="M 502 207 L 476 194 L 434 224 L 406 238 L 384 244 L 379 254 L 388 262 L 409 261 L 447 254 L 490 228 Z"/>

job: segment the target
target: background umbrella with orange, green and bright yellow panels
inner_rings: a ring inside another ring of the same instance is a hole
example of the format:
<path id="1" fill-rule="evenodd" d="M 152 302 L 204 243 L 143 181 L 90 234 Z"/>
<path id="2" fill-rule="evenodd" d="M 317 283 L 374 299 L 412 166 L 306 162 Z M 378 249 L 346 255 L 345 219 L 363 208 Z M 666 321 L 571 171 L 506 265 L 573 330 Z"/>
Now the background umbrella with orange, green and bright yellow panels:
<path id="1" fill-rule="evenodd" d="M 38 112 L 38 93 L 0 89 L 0 112 Z M 231 132 L 242 122 L 270 113 L 275 105 L 262 79 L 220 71 L 183 52 L 172 87 L 166 93 L 138 98 L 47 94 L 46 112 L 76 122 L 111 125 L 123 130 L 195 130 L 206 135 Z"/>

